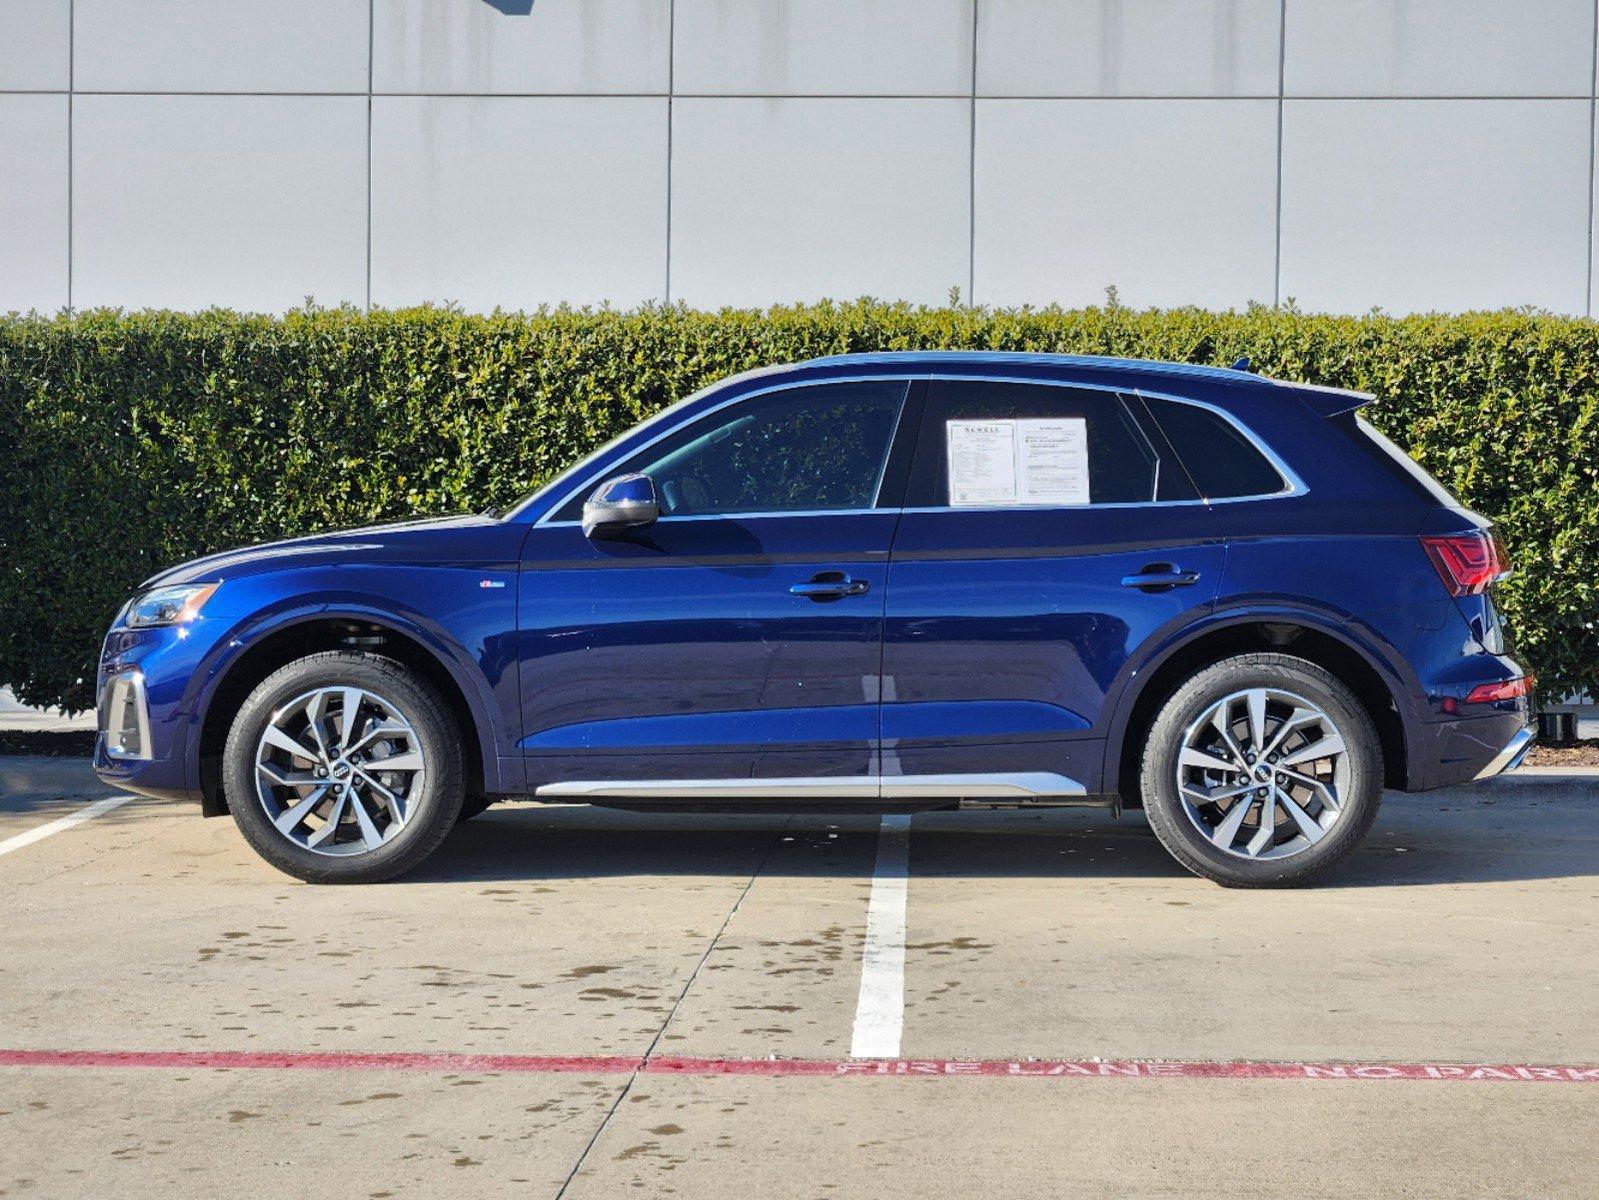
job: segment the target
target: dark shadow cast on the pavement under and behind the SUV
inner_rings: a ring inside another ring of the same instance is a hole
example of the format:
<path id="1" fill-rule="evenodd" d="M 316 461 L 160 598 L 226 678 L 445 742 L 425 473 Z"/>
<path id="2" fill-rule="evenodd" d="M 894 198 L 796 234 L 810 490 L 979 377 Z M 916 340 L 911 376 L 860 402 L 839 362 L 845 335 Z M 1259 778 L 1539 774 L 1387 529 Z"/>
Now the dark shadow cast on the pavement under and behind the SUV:
<path id="1" fill-rule="evenodd" d="M 1519 781 L 1517 781 L 1519 782 Z M 870 875 L 871 814 L 689 814 L 504 803 L 462 824 L 401 882 L 627 875 Z M 911 878 L 1190 877 L 1140 813 L 921 813 Z M 1370 835 L 1314 886 L 1434 886 L 1599 877 L 1599 779 L 1390 792 Z M 1194 880 L 1198 883 L 1198 880 Z"/>

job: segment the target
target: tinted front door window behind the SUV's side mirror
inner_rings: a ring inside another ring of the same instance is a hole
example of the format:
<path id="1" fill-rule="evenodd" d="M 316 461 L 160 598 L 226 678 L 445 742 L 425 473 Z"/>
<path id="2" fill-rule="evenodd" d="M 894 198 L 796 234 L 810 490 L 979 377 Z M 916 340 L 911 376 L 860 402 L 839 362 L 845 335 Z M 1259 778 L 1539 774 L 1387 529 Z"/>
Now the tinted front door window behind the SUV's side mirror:
<path id="1" fill-rule="evenodd" d="M 903 398 L 900 381 L 771 392 L 670 434 L 606 477 L 648 472 L 667 517 L 870 509 Z M 585 499 L 568 501 L 560 518 L 580 517 Z"/>

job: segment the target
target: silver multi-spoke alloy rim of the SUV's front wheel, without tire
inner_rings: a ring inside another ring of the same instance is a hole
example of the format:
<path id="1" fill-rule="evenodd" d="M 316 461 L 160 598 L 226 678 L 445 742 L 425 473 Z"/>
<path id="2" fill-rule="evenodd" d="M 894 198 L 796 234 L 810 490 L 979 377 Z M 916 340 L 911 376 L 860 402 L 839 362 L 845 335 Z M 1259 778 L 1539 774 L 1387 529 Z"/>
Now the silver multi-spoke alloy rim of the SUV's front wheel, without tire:
<path id="1" fill-rule="evenodd" d="M 256 795 L 277 830 L 317 854 L 390 842 L 427 778 L 400 709 L 355 686 L 317 688 L 277 709 L 256 742 Z"/>

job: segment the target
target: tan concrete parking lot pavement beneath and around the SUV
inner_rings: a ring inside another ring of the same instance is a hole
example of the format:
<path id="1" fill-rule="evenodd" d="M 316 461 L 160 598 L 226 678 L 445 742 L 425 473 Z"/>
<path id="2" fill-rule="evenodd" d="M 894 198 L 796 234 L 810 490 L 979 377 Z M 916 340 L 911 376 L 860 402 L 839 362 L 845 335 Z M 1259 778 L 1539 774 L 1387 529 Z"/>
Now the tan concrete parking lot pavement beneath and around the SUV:
<path id="1" fill-rule="evenodd" d="M 0 842 L 104 794 L 0 760 Z M 0 856 L 0 1051 L 844 1059 L 876 845 L 510 805 L 334 890 L 136 800 Z M 1594 901 L 1599 773 L 1391 794 L 1289 893 L 1193 878 L 1135 816 L 921 814 L 902 1053 L 1599 1066 Z M 0 1195 L 1599 1194 L 1599 1083 L 336 1062 L 0 1067 Z"/>

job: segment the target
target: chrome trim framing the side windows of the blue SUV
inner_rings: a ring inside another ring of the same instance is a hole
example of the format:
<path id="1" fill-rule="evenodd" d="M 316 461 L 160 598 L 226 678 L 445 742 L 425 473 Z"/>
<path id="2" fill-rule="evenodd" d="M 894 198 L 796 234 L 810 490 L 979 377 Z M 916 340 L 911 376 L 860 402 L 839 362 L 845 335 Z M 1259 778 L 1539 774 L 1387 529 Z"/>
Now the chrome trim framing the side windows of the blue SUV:
<path id="1" fill-rule="evenodd" d="M 734 376 L 734 378 L 737 378 L 737 376 Z M 1028 378 L 1028 376 L 1015 376 L 1015 374 L 956 374 L 956 373 L 950 373 L 950 371 L 932 371 L 932 373 L 926 373 L 926 374 L 903 374 L 903 376 L 902 374 L 851 374 L 851 376 L 836 376 L 836 378 L 828 378 L 828 379 L 790 381 L 790 382 L 784 382 L 784 384 L 774 384 L 771 387 L 761 387 L 761 389 L 758 389 L 755 392 L 745 392 L 742 395 L 729 397 L 728 400 L 723 400 L 720 405 L 713 405 L 712 408 L 707 408 L 699 416 L 712 416 L 713 413 L 720 413 L 723 408 L 728 408 L 729 405 L 742 403 L 744 400 L 753 400 L 756 397 L 768 395 L 771 392 L 782 392 L 782 390 L 795 389 L 795 387 L 819 387 L 822 384 L 855 384 L 855 382 L 873 382 L 873 381 L 889 381 L 889 382 L 903 382 L 903 384 L 931 382 L 931 381 L 939 381 L 939 382 L 948 382 L 948 381 L 963 382 L 964 381 L 964 382 L 983 382 L 983 384 L 1041 384 L 1044 387 L 1073 387 L 1073 389 L 1087 390 L 1087 392 L 1110 392 L 1111 395 L 1126 395 L 1126 394 L 1129 394 L 1129 389 L 1126 389 L 1126 387 L 1111 387 L 1108 384 L 1076 382 L 1076 381 L 1070 381 L 1070 379 L 1033 379 L 1033 378 Z M 704 389 L 704 390 L 708 390 L 708 389 Z M 648 429 L 649 426 L 656 424 L 657 421 L 667 418 L 675 410 L 683 408 L 689 402 L 692 402 L 697 397 L 704 395 L 704 390 L 702 392 L 696 392 L 692 397 L 688 397 L 686 400 L 680 400 L 678 403 L 672 405 L 672 408 L 662 410 L 660 413 L 657 413 L 656 416 L 652 416 L 648 421 L 641 422 L 640 426 L 635 426 L 635 429 L 632 429 L 628 432 L 640 432 L 643 429 Z M 1278 477 L 1282 480 L 1282 488 L 1278 490 L 1278 491 L 1263 491 L 1263 493 L 1254 493 L 1254 494 L 1249 494 L 1249 496 L 1222 496 L 1222 498 L 1217 498 L 1217 499 L 1209 499 L 1206 496 L 1199 496 L 1196 499 L 1182 499 L 1182 501 L 1115 501 L 1115 502 L 1108 502 L 1108 504 L 995 504 L 995 506 L 980 506 L 980 507 L 979 506 L 953 507 L 950 504 L 932 504 L 932 506 L 916 506 L 916 507 L 907 507 L 907 509 L 878 509 L 878 507 L 870 507 L 870 509 L 788 509 L 788 510 L 780 510 L 780 512 L 728 512 L 728 514 L 712 514 L 712 512 L 707 512 L 707 514 L 692 514 L 692 515 L 684 514 L 681 517 L 662 517 L 660 520 L 664 520 L 664 522 L 681 522 L 681 520 L 753 520 L 753 518 L 774 518 L 774 517 L 844 517 L 844 515 L 867 514 L 867 512 L 911 512 L 911 514 L 926 514 L 926 512 L 1087 512 L 1091 509 L 1156 509 L 1156 507 L 1167 509 L 1167 507 L 1183 507 L 1183 506 L 1196 506 L 1196 504 L 1241 504 L 1241 502 L 1252 502 L 1252 501 L 1263 501 L 1263 499 L 1289 499 L 1289 498 L 1294 498 L 1294 496 L 1305 496 L 1305 494 L 1310 493 L 1310 486 L 1305 483 L 1303 478 L 1300 478 L 1298 472 L 1295 472 L 1294 467 L 1290 467 L 1287 462 L 1284 462 L 1282 456 L 1278 454 L 1271 446 L 1268 446 L 1265 442 L 1262 442 L 1260 437 L 1257 437 L 1255 432 L 1249 426 L 1246 426 L 1236 416 L 1233 416 L 1231 413 L 1228 413 L 1225 408 L 1212 405 L 1212 403 L 1209 403 L 1206 400 L 1194 400 L 1193 397 L 1188 397 L 1188 395 L 1174 395 L 1170 392 L 1153 392 L 1153 390 L 1148 390 L 1148 389 L 1143 389 L 1143 387 L 1134 387 L 1134 389 L 1130 389 L 1130 394 L 1137 395 L 1137 397 L 1142 397 L 1145 400 L 1170 400 L 1172 403 L 1191 405 L 1194 408 L 1204 408 L 1209 413 L 1215 413 L 1218 418 L 1222 418 L 1223 421 L 1226 421 L 1226 424 L 1231 426 L 1233 430 L 1239 437 L 1242 437 L 1250 446 L 1254 446 L 1262 454 L 1262 458 L 1266 459 L 1266 462 L 1271 464 L 1271 467 L 1278 472 Z M 910 397 L 907 395 L 907 400 L 908 398 Z M 696 418 L 696 419 L 699 419 L 699 418 Z M 899 437 L 900 422 L 903 422 L 903 419 L 905 419 L 905 405 L 902 403 L 900 405 L 900 414 L 899 414 L 899 418 L 895 419 L 895 424 L 894 424 L 894 437 L 895 438 Z M 649 450 L 649 446 L 656 445 L 662 438 L 670 437 L 673 432 L 676 432 L 678 427 L 680 426 L 673 426 L 672 429 L 660 430 L 652 438 L 649 438 L 648 442 L 644 442 L 643 445 L 640 445 L 638 450 L 633 451 L 633 453 L 638 453 L 638 451 L 643 451 L 643 450 Z M 622 437 L 625 437 L 625 434 Z M 616 438 L 616 440 L 620 440 L 620 438 Z M 611 445 L 614 445 L 616 440 L 612 440 L 611 443 L 606 443 L 606 446 L 603 446 L 601 450 L 596 450 L 588 458 L 590 459 L 596 458 L 600 453 L 603 453 L 603 450 L 606 450 Z M 1175 445 L 1172 448 L 1177 450 Z M 892 453 L 894 453 L 894 442 L 891 440 L 889 442 L 889 454 L 892 456 Z M 1180 454 L 1182 451 L 1177 450 L 1177 453 Z M 588 461 L 588 459 L 585 459 L 585 461 Z M 577 470 L 579 467 L 582 467 L 582 462 L 579 462 L 577 467 L 572 467 L 572 470 Z M 887 459 L 884 459 L 884 472 L 886 470 L 887 470 Z M 563 507 L 566 507 L 566 504 L 569 504 L 574 496 L 577 496 L 579 493 L 582 493 L 584 486 L 600 486 L 600 483 L 603 483 L 603 482 L 604 482 L 604 478 L 595 478 L 595 477 L 590 475 L 588 478 L 584 480 L 584 483 L 579 483 L 576 488 L 572 488 L 568 493 L 564 493 L 555 504 L 552 504 L 550 510 L 544 517 L 540 517 L 537 522 L 534 522 L 534 526 L 547 526 L 547 528 L 580 526 L 582 522 L 574 522 L 574 520 L 563 520 L 563 522 L 550 520 L 550 514 L 560 512 Z M 883 488 L 883 475 L 879 474 L 878 475 L 878 490 L 881 491 L 881 488 Z M 529 498 L 526 504 L 532 504 L 536 499 L 537 499 L 537 494 L 532 496 L 532 498 Z M 521 507 L 526 507 L 526 504 L 523 504 Z"/>

